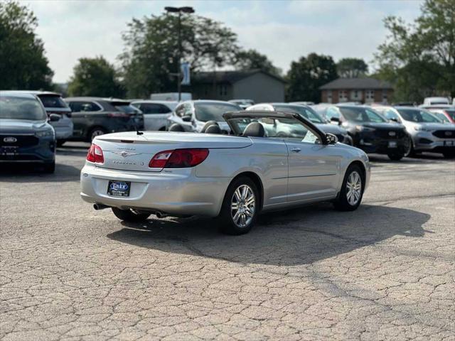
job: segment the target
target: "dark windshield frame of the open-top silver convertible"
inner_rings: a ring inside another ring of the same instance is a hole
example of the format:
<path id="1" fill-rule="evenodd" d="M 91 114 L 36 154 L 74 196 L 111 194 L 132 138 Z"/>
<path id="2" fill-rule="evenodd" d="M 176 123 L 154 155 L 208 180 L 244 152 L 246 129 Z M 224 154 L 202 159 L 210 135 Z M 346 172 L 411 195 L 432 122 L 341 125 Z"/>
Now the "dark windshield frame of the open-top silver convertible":
<path id="1" fill-rule="evenodd" d="M 238 129 L 237 124 L 233 122 L 233 119 L 262 119 L 262 118 L 269 118 L 269 119 L 294 119 L 299 121 L 298 123 L 304 126 L 304 129 L 308 129 L 312 131 L 316 136 L 319 137 L 321 144 L 328 144 L 327 136 L 321 129 L 319 129 L 316 125 L 314 125 L 308 119 L 301 117 L 299 114 L 294 114 L 290 112 L 268 112 L 268 111 L 242 111 L 242 112 L 227 112 L 223 114 L 223 118 L 226 122 L 228 122 L 231 131 L 235 134 L 235 136 L 242 136 L 242 131 Z"/>

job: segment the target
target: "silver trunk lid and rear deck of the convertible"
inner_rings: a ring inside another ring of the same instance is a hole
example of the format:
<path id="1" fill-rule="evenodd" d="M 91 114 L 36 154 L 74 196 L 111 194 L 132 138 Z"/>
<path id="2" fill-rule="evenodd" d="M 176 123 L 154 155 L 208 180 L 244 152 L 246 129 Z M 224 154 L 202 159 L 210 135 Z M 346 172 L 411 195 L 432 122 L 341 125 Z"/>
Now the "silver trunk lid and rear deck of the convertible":
<path id="1" fill-rule="evenodd" d="M 102 168 L 125 171 L 159 172 L 162 168 L 149 168 L 149 162 L 156 153 L 181 148 L 245 148 L 252 144 L 249 138 L 144 131 L 115 133 L 97 136 L 93 141 L 103 151 L 105 162 L 97 164 Z"/>

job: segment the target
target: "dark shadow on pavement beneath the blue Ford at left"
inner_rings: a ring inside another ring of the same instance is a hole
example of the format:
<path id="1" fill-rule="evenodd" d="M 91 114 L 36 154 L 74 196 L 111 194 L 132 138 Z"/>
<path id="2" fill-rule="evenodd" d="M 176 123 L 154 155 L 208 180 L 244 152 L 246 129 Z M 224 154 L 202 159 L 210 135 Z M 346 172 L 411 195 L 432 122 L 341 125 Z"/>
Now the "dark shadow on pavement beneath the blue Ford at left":
<path id="1" fill-rule="evenodd" d="M 83 165 L 82 165 L 83 166 Z M 82 168 L 82 166 L 80 168 Z M 55 173 L 46 174 L 39 164 L 7 164 L 0 167 L 0 183 L 48 183 L 77 181 L 80 178 L 80 168 L 57 163 Z"/>

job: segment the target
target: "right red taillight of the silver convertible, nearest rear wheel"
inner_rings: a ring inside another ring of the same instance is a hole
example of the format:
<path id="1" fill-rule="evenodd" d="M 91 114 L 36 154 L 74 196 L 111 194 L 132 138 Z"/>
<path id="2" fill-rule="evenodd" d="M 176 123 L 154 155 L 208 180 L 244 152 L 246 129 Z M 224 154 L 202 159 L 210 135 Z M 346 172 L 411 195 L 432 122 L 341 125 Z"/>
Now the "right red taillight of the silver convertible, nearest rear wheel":
<path id="1" fill-rule="evenodd" d="M 150 168 L 188 168 L 198 166 L 208 156 L 206 148 L 161 151 L 150 161 Z"/>

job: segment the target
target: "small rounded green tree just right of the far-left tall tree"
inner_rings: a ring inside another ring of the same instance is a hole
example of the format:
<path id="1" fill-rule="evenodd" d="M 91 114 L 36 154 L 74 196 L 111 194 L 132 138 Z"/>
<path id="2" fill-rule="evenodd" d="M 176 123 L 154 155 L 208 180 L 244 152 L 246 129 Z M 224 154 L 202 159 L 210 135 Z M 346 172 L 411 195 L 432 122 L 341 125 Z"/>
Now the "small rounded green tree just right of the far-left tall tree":
<path id="1" fill-rule="evenodd" d="M 117 72 L 104 57 L 80 58 L 68 84 L 70 96 L 123 97 Z"/>

